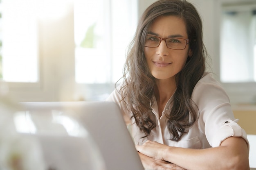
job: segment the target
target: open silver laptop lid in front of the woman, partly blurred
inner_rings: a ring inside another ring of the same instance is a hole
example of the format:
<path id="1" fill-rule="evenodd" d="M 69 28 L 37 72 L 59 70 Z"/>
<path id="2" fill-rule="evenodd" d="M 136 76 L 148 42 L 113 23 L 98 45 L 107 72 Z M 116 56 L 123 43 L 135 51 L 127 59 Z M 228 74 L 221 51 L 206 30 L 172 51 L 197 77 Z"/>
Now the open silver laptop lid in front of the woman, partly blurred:
<path id="1" fill-rule="evenodd" d="M 125 122 L 119 110 L 119 107 L 113 102 L 26 102 L 21 103 L 23 106 L 23 111 L 29 113 L 32 117 L 36 115 L 37 117 L 37 126 L 43 126 L 42 122 L 49 121 L 47 120 L 47 116 L 51 117 L 52 115 L 62 115 L 67 116 L 73 119 L 75 122 L 78 122 L 82 125 L 86 131 L 89 133 L 91 139 L 95 144 L 91 145 L 97 146 L 99 149 L 100 157 L 103 158 L 105 167 L 107 170 L 144 170 L 141 161 L 139 159 L 139 155 L 135 149 L 135 146 L 132 142 L 132 138 L 126 128 Z M 22 112 L 20 112 L 22 113 Z M 34 119 L 35 121 L 35 119 Z M 76 160 L 76 153 L 85 155 L 85 152 L 81 152 L 82 150 L 86 150 L 85 146 L 83 146 L 83 142 L 81 140 L 72 140 L 72 137 L 67 137 L 66 139 L 63 137 L 58 137 L 58 135 L 47 135 L 47 133 L 51 133 L 51 127 L 47 125 L 46 131 L 40 131 L 38 133 L 34 133 L 34 135 L 38 136 L 38 139 L 42 143 L 42 148 L 46 161 L 48 162 L 48 166 L 52 166 L 56 170 L 58 170 L 58 166 L 56 162 L 61 161 L 56 158 L 61 157 L 61 154 L 65 150 L 67 153 L 72 150 L 73 157 L 70 156 L 68 160 Z M 68 128 L 68 127 L 66 127 Z M 78 127 L 76 127 L 78 128 Z M 40 129 L 40 128 L 39 128 Z M 41 129 L 45 129 L 41 127 Z M 56 129 L 56 128 L 55 128 Z M 58 132 L 61 132 L 59 130 Z M 67 133 L 63 132 L 63 133 Z M 73 131 L 69 132 L 70 136 L 83 136 L 81 135 L 81 131 L 76 134 L 76 130 L 73 127 Z M 72 135 L 73 133 L 73 135 Z M 38 135 L 39 134 L 39 135 Z M 33 135 L 33 134 L 32 134 Z M 48 137 L 45 137 L 48 136 Z M 50 137 L 49 137 L 50 136 Z M 76 138 L 77 139 L 77 138 Z M 64 140 L 64 141 L 63 141 Z M 52 143 L 52 144 L 51 144 Z M 54 143 L 58 143 L 54 145 Z M 88 143 L 88 141 L 87 141 Z M 79 146 L 81 145 L 81 146 Z M 66 147 L 69 146 L 69 147 Z M 79 147 L 78 147 L 79 146 Z M 66 147 L 66 148 L 65 148 Z M 63 150 L 58 153 L 57 150 Z M 92 148 L 91 148 L 92 149 Z M 55 150 L 55 151 L 54 151 Z M 69 151 L 68 151 L 69 150 Z M 95 150 L 97 153 L 97 150 Z M 67 155 L 67 154 L 66 154 Z M 77 155 L 79 157 L 79 155 Z M 80 159 L 79 157 L 79 159 Z M 67 159 L 67 157 L 65 158 Z M 87 160 L 88 161 L 88 160 Z M 73 164 L 72 164 L 73 163 Z M 99 162 L 100 163 L 100 160 Z M 70 163 L 68 167 L 71 169 L 80 170 L 77 165 L 74 165 L 74 161 Z M 85 166 L 87 164 L 81 164 L 83 167 L 81 169 L 88 169 Z M 76 166 L 77 168 L 74 168 Z M 99 167 L 99 166 L 96 166 Z M 68 168 L 66 168 L 68 170 Z M 64 167 L 61 170 L 65 170 Z"/>

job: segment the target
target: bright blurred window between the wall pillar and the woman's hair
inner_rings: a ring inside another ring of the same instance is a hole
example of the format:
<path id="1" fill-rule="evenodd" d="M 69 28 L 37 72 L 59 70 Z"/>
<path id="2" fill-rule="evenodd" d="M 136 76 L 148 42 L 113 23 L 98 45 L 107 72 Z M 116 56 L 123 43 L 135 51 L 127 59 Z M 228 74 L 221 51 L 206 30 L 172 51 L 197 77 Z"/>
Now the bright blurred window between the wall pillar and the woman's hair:
<path id="1" fill-rule="evenodd" d="M 78 98 L 104 100 L 112 92 L 136 25 L 136 0 L 74 1 L 76 82 L 86 87 Z"/>

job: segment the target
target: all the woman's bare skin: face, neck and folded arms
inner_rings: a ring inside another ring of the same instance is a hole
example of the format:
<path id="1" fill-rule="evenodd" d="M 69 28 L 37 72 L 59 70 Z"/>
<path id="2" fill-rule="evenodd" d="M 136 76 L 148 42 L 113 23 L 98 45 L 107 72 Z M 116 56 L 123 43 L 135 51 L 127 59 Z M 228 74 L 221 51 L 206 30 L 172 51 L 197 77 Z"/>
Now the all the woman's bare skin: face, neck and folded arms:
<path id="1" fill-rule="evenodd" d="M 150 26 L 148 34 L 162 38 L 179 36 L 187 39 L 184 20 L 176 16 L 161 16 Z M 192 51 L 167 48 L 165 41 L 159 47 L 145 47 L 148 68 L 156 78 L 155 96 L 159 117 L 166 102 L 176 89 L 175 75 L 182 70 Z M 249 151 L 242 137 L 229 137 L 220 146 L 207 149 L 177 148 L 147 141 L 136 146 L 144 168 L 154 170 L 249 170 Z"/>

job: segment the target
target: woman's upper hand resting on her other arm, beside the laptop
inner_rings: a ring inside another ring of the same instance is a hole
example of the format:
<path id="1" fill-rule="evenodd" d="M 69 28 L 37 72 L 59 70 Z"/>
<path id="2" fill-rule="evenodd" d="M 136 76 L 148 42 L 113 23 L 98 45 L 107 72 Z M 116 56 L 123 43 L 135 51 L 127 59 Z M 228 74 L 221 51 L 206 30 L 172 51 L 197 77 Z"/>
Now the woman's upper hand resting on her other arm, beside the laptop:
<path id="1" fill-rule="evenodd" d="M 136 145 L 135 147 L 137 151 L 144 155 L 147 155 L 148 157 L 164 161 L 163 153 L 167 152 L 170 146 L 148 140 L 141 146 Z"/>

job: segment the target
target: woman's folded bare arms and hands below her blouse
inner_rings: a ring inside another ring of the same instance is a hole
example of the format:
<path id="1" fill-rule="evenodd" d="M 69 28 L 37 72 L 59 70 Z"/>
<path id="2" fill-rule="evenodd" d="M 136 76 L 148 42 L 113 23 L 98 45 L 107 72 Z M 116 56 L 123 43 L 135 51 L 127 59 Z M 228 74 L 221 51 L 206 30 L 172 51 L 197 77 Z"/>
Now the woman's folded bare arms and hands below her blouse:
<path id="1" fill-rule="evenodd" d="M 187 170 L 249 170 L 249 153 L 242 137 L 229 137 L 220 146 L 207 149 L 177 148 L 153 141 L 136 148 L 147 169 L 173 170 L 160 161 L 150 162 L 156 159 L 172 162 L 176 169 L 180 166 Z"/>

